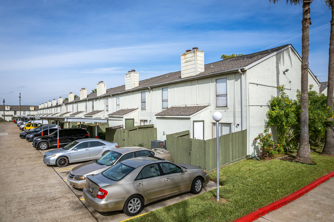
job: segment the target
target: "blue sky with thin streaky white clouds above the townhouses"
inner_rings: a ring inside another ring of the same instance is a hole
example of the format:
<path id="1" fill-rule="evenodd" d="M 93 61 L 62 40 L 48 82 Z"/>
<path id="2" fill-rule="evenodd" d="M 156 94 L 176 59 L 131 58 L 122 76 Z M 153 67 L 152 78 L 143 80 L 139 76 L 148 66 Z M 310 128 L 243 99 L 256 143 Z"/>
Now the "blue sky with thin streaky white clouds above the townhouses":
<path id="1" fill-rule="evenodd" d="M 311 4 L 309 67 L 327 81 L 331 11 Z M 0 0 L 0 96 L 38 105 L 69 92 L 180 70 L 192 47 L 205 64 L 292 44 L 301 55 L 302 7 L 269 1 Z"/>

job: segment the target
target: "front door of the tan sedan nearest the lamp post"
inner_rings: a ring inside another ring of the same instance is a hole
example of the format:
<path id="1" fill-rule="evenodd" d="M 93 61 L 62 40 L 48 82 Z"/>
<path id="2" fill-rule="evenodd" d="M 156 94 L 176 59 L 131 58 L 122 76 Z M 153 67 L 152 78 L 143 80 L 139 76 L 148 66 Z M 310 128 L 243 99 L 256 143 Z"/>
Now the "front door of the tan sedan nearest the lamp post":
<path id="1" fill-rule="evenodd" d="M 165 196 L 187 191 L 189 188 L 189 174 L 182 173 L 182 169 L 172 163 L 159 163 L 164 173 L 166 183 Z"/>

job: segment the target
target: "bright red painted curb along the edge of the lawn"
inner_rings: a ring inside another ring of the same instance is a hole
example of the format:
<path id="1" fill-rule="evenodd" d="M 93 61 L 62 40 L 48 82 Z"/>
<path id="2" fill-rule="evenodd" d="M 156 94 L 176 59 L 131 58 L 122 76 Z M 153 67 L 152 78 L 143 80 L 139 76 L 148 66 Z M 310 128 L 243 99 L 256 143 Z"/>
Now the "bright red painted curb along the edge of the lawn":
<path id="1" fill-rule="evenodd" d="M 313 188 L 317 187 L 319 184 L 325 182 L 326 180 L 328 180 L 329 178 L 332 178 L 334 176 L 334 171 L 323 176 L 320 177 L 319 179 L 313 181 L 312 183 L 310 183 L 309 185 L 306 185 L 305 187 L 303 187 L 300 190 L 297 190 L 296 192 L 290 194 L 289 196 L 283 197 L 282 199 L 269 204 L 265 207 L 260 208 L 259 210 L 253 211 L 252 213 L 249 213 L 243 217 L 240 217 L 239 219 L 236 219 L 234 222 L 252 222 L 256 219 L 258 219 L 259 217 L 268 214 L 269 212 L 276 210 L 284 205 L 286 205 L 287 203 L 290 203 L 291 201 L 297 199 L 300 196 L 303 196 L 304 194 L 306 194 L 307 192 L 309 192 L 310 190 L 312 190 Z"/>

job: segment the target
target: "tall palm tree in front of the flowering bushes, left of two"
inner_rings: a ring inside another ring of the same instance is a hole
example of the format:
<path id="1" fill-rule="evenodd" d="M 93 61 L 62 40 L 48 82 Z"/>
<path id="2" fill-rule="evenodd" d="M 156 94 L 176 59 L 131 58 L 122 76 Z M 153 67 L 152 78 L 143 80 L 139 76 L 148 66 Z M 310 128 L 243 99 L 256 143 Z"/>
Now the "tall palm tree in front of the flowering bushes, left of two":
<path id="1" fill-rule="evenodd" d="M 278 3 L 280 0 L 269 0 L 269 3 Z M 300 98 L 300 137 L 299 149 L 296 161 L 302 163 L 312 163 L 309 150 L 309 97 L 308 97 L 308 74 L 309 74 L 309 26 L 310 4 L 313 0 L 287 0 L 287 4 L 300 5 L 303 3 L 302 20 L 302 65 L 301 65 L 301 98 Z"/>

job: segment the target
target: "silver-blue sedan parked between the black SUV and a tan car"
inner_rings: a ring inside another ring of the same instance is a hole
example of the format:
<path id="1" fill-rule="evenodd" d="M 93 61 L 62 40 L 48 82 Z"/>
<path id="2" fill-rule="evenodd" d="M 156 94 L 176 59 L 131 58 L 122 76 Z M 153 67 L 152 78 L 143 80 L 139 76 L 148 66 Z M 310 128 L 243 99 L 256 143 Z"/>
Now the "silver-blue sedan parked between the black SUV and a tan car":
<path id="1" fill-rule="evenodd" d="M 43 161 L 47 165 L 67 166 L 69 163 L 96 160 L 118 148 L 115 142 L 100 139 L 80 139 L 60 148 L 46 152 Z"/>

